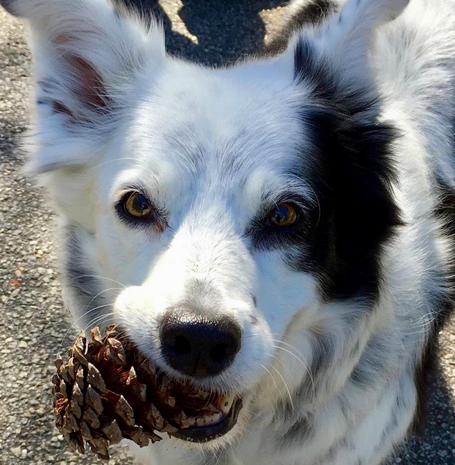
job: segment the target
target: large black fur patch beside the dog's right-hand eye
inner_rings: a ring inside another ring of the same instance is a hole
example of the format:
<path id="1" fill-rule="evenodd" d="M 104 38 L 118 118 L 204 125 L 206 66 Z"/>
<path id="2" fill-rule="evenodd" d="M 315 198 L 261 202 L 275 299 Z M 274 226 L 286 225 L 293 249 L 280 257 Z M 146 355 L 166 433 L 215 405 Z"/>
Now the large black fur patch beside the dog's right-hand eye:
<path id="1" fill-rule="evenodd" d="M 301 118 L 316 161 L 314 166 L 306 162 L 298 175 L 314 189 L 319 211 L 302 241 L 302 254 L 290 263 L 314 272 L 329 300 L 374 300 L 382 247 L 402 224 L 390 190 L 397 132 L 379 122 L 379 105 L 368 84 L 347 89 L 338 71 L 304 40 L 295 50 L 295 80 L 313 89 L 315 104 L 302 107 Z"/>

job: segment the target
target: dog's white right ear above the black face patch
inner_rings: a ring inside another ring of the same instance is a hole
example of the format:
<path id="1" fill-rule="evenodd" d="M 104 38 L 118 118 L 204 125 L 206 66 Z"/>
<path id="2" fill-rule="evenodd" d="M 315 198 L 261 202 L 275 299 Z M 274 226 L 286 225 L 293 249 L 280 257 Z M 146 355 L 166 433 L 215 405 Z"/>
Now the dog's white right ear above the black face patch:
<path id="1" fill-rule="evenodd" d="M 375 29 L 400 16 L 408 3 L 409 0 L 347 0 L 322 24 L 302 30 L 301 37 L 309 40 L 327 62 L 345 71 L 347 79 L 355 79 L 359 71 L 368 68 L 366 58 Z"/>

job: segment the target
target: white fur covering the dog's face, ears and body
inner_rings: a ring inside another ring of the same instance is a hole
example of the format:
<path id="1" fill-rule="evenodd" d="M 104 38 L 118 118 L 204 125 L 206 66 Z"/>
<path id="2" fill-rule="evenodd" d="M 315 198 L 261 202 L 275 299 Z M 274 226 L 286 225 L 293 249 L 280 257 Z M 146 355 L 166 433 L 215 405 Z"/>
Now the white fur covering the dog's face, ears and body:
<path id="1" fill-rule="evenodd" d="M 363 312 L 362 302 L 325 303 L 313 275 L 291 270 L 280 251 L 252 251 L 244 236 L 264 198 L 298 189 L 318 202 L 311 188 L 286 175 L 309 145 L 298 116 L 309 88 L 293 83 L 297 36 L 280 57 L 214 70 L 166 56 L 159 28 L 117 19 L 107 0 L 17 0 L 10 8 L 28 19 L 36 79 L 53 78 L 51 97 L 89 122 L 72 123 L 40 106 L 31 159 L 33 170 L 49 171 L 58 210 L 83 237 L 85 264 L 110 289 L 103 295 L 108 310 L 80 319 L 87 306 L 67 287 L 78 324 L 121 323 L 147 356 L 175 374 L 160 357 L 157 322 L 181 299 L 197 301 L 186 289 L 202 279 L 243 328 L 232 366 L 207 381 L 243 394 L 239 424 L 204 446 L 165 439 L 136 450 L 137 457 L 147 465 L 379 465 L 406 435 L 415 410 L 413 369 L 435 310 L 424 292 L 443 286 L 429 270 L 450 260 L 431 212 L 435 173 L 455 186 L 454 3 L 349 0 L 340 14 L 300 33 L 341 79 L 372 79 L 384 119 L 402 131 L 393 188 L 406 226 L 384 251 L 377 311 L 354 327 L 348 317 Z M 65 40 L 55 43 L 58 37 Z M 74 74 L 60 58 L 76 52 L 101 72 L 108 116 L 71 94 Z M 131 184 L 169 211 L 163 233 L 131 229 L 117 218 L 114 204 Z M 311 376 L 317 331 L 333 342 L 336 362 L 327 380 L 293 405 L 295 415 L 311 417 L 311 438 L 283 450 L 276 438 L 286 419 L 274 418 L 275 406 Z M 359 389 L 348 378 L 372 335 L 388 342 L 379 354 L 387 371 L 374 389 Z M 354 340 L 357 352 L 347 356 Z M 392 416 L 396 425 L 388 431 Z"/>

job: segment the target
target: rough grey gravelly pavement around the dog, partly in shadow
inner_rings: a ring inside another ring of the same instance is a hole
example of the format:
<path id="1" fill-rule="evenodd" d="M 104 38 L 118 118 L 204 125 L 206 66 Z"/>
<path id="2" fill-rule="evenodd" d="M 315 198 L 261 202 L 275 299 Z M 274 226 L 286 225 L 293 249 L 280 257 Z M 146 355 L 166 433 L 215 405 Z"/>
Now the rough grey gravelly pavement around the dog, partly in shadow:
<path id="1" fill-rule="evenodd" d="M 160 0 L 169 50 L 219 64 L 255 50 L 284 0 Z M 183 8 L 182 8 L 183 7 Z M 21 173 L 28 123 L 29 53 L 17 21 L 0 11 L 0 464 L 98 464 L 69 452 L 53 428 L 50 376 L 69 320 L 60 300 L 53 223 L 40 188 Z M 428 429 L 393 463 L 455 464 L 455 325 L 443 333 Z M 112 464 L 131 465 L 125 453 Z M 349 465 L 349 464 L 346 464 Z"/>

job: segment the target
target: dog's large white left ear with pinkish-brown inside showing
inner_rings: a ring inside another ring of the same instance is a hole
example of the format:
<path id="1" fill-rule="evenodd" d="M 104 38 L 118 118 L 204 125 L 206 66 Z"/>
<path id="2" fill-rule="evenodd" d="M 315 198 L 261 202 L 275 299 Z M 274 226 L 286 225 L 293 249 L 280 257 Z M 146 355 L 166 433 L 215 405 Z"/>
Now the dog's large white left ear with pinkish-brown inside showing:
<path id="1" fill-rule="evenodd" d="M 31 170 L 84 164 L 112 132 L 139 73 L 160 67 L 156 24 L 109 0 L 0 0 L 28 23 L 37 82 Z"/>

